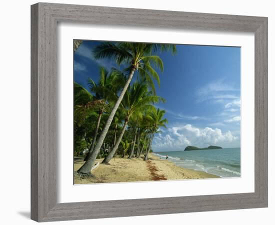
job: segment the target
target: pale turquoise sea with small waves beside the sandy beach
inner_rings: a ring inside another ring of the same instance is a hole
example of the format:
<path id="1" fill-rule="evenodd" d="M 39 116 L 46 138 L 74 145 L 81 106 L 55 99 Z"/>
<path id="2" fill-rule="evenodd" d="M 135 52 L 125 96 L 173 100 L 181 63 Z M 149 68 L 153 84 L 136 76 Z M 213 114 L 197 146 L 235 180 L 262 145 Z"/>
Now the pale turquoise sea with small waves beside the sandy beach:
<path id="1" fill-rule="evenodd" d="M 176 165 L 221 177 L 240 176 L 240 148 L 153 152 Z"/>

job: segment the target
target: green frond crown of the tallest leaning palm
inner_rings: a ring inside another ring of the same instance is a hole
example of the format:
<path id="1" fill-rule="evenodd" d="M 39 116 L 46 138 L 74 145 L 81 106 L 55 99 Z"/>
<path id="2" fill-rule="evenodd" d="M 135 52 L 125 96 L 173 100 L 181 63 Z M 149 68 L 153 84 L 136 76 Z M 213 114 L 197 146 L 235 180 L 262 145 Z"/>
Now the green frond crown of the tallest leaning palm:
<path id="1" fill-rule="evenodd" d="M 97 45 L 92 53 L 97 59 L 109 58 L 118 65 L 129 65 L 124 73 L 129 74 L 132 69 L 137 71 L 141 80 L 146 80 L 153 93 L 155 87 L 153 80 L 160 84 L 159 75 L 156 68 L 163 71 L 163 62 L 158 55 L 153 55 L 156 51 L 176 52 L 174 44 L 153 44 L 153 43 L 133 43 L 133 42 L 103 42 Z"/>

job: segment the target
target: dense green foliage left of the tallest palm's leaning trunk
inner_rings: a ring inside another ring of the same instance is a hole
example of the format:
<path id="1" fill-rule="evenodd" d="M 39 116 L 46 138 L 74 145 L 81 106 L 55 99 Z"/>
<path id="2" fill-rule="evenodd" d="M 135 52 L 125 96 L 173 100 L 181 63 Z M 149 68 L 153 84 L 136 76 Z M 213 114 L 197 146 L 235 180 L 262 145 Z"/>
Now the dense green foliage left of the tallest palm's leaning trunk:
<path id="1" fill-rule="evenodd" d="M 102 115 L 102 121 L 106 120 L 108 106 L 116 100 L 116 93 L 124 84 L 124 76 L 116 69 L 108 72 L 105 68 L 99 68 L 99 81 L 95 83 L 88 80 L 89 90 L 74 82 L 74 150 L 81 148 L 82 138 L 88 142 L 94 137 L 98 113 Z M 92 95 L 92 93 L 94 95 Z M 99 130 L 101 126 L 99 126 Z"/>

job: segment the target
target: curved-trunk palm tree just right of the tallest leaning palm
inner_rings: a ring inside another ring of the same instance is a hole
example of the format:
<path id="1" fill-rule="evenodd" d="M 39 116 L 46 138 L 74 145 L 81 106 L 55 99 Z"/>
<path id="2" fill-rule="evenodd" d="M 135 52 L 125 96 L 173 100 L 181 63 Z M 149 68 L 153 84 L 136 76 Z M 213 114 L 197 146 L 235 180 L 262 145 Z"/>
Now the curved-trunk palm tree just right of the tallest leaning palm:
<path id="1" fill-rule="evenodd" d="M 152 104 L 158 102 L 159 100 L 164 101 L 163 98 L 153 95 L 151 91 L 148 91 L 147 84 L 135 82 L 132 86 L 130 86 L 129 90 L 126 91 L 125 96 L 121 101 L 121 108 L 125 113 L 125 119 L 122 130 L 113 148 L 108 153 L 108 155 L 103 159 L 102 163 L 107 164 L 113 157 L 124 135 L 130 117 L 133 114 L 135 117 L 141 117 L 142 110 L 148 107 L 152 107 Z"/>

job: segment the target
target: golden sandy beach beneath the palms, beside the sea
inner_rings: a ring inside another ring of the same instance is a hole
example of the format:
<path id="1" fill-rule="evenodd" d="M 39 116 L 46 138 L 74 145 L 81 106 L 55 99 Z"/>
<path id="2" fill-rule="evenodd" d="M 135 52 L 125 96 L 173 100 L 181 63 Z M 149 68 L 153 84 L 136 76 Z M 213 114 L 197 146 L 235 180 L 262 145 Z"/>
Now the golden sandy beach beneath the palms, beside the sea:
<path id="1" fill-rule="evenodd" d="M 75 159 L 74 171 L 83 164 L 83 158 Z M 102 161 L 103 159 L 96 159 Z M 143 158 L 127 159 L 114 157 L 109 165 L 101 164 L 92 170 L 94 177 L 80 178 L 74 175 L 74 183 L 110 183 L 110 182 L 133 182 L 149 180 L 173 180 L 173 179 L 198 179 L 198 178 L 216 178 L 219 176 L 186 169 L 175 165 L 173 162 L 160 159 L 154 154 L 149 154 L 149 159 Z"/>

